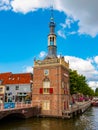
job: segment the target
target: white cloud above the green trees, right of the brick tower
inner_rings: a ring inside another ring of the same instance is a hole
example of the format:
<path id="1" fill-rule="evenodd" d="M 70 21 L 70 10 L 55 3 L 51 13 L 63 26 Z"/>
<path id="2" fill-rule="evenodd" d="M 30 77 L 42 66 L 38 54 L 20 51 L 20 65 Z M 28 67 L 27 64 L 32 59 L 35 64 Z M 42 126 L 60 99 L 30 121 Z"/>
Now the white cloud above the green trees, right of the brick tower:
<path id="1" fill-rule="evenodd" d="M 98 70 L 95 67 L 96 63 L 94 59 L 95 57 L 82 59 L 74 56 L 65 56 L 65 60 L 69 61 L 70 68 L 86 76 L 89 86 L 93 89 L 98 87 Z"/>

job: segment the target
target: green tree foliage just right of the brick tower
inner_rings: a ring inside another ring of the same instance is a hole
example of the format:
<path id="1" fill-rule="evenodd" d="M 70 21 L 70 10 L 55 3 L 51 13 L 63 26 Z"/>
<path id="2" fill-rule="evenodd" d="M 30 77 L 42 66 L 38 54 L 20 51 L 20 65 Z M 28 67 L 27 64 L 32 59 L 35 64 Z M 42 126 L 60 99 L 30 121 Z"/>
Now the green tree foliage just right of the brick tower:
<path id="1" fill-rule="evenodd" d="M 93 96 L 94 90 L 92 90 L 88 84 L 86 77 L 77 73 L 76 70 L 71 70 L 70 75 L 70 92 L 71 94 L 82 93 L 84 95 Z"/>

